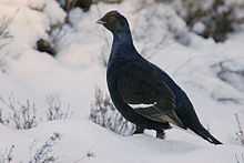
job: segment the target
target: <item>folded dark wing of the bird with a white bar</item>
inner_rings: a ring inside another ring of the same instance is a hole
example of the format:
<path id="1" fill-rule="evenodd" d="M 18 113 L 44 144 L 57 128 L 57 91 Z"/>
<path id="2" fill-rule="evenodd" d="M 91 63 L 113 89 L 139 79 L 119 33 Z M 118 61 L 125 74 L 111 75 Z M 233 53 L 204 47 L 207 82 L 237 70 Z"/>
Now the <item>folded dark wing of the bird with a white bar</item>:
<path id="1" fill-rule="evenodd" d="M 163 81 L 161 71 L 149 62 L 128 62 L 119 71 L 118 90 L 139 114 L 153 121 L 181 125 L 174 111 L 175 95 Z"/>

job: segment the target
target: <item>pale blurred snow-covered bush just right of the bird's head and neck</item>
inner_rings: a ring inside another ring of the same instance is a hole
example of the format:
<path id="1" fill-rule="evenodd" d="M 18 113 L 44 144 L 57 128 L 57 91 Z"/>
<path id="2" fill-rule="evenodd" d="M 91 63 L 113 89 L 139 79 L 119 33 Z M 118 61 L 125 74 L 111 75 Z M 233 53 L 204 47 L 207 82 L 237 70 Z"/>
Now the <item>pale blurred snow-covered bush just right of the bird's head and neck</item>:
<path id="1" fill-rule="evenodd" d="M 156 54 L 169 40 L 184 45 L 191 43 L 185 22 L 171 7 L 148 0 L 138 1 L 135 7 L 132 33 L 141 54 Z"/>

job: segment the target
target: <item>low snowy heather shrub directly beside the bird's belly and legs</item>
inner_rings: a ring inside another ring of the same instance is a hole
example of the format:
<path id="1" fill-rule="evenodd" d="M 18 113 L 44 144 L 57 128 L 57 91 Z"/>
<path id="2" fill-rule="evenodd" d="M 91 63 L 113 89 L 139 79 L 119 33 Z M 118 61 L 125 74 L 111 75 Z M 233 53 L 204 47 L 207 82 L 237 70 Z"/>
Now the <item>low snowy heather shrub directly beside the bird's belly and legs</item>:
<path id="1" fill-rule="evenodd" d="M 95 100 L 91 106 L 90 119 L 94 123 L 122 135 L 132 134 L 135 130 L 134 124 L 126 121 L 116 111 L 109 95 L 103 93 L 101 89 L 95 90 Z"/>

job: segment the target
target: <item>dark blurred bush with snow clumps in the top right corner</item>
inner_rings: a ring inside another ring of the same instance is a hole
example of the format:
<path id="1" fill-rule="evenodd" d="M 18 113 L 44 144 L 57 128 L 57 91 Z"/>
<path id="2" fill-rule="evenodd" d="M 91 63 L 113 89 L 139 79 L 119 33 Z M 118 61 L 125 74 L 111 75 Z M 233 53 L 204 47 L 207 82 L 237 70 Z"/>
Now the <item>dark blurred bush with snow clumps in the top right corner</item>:
<path id="1" fill-rule="evenodd" d="M 244 2 L 230 0 L 176 0 L 179 14 L 189 28 L 204 38 L 216 42 L 227 39 L 227 34 L 243 23 Z"/>

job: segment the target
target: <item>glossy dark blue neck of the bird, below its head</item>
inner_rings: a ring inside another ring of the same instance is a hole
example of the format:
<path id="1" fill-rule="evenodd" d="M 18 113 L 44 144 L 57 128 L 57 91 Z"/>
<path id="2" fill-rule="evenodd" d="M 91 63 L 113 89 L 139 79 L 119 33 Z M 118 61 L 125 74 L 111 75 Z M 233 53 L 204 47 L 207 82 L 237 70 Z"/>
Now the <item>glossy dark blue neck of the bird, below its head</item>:
<path id="1" fill-rule="evenodd" d="M 133 44 L 130 31 L 113 34 L 113 44 L 110 58 L 134 59 L 139 53 Z"/>

